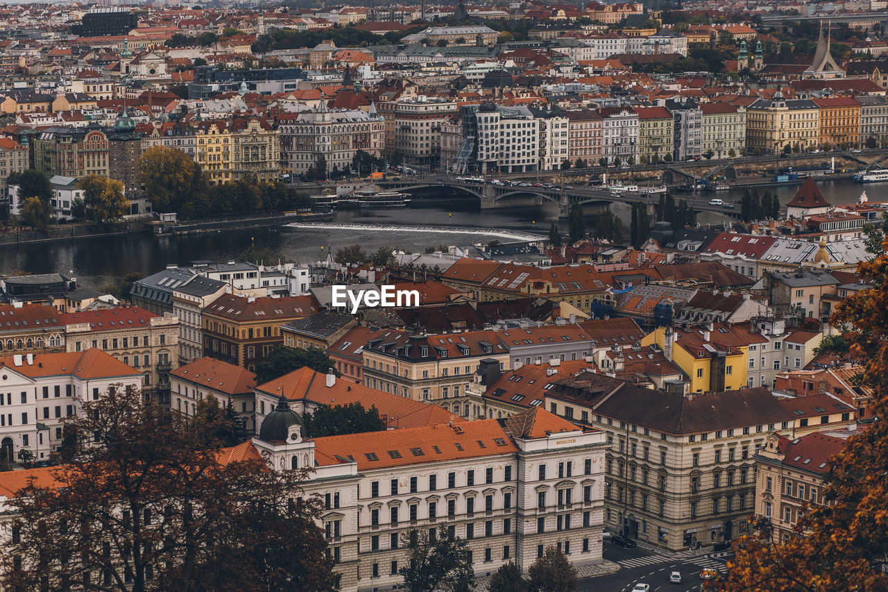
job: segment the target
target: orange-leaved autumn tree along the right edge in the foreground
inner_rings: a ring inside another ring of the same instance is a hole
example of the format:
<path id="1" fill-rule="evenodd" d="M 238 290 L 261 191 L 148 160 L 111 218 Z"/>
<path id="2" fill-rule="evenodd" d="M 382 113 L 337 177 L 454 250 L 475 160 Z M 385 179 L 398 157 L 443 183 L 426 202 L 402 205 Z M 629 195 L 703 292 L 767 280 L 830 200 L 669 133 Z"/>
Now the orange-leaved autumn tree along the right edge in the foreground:
<path id="1" fill-rule="evenodd" d="M 888 242 L 884 244 L 888 246 Z M 861 360 L 861 386 L 873 391 L 871 416 L 888 417 L 888 255 L 860 264 L 874 287 L 854 292 L 831 324 L 852 326 L 844 340 Z M 829 462 L 821 487 L 828 505 L 810 504 L 797 536 L 771 539 L 765 518 L 755 535 L 734 544 L 725 580 L 707 585 L 729 592 L 846 592 L 888 589 L 888 422 L 876 421 L 847 439 Z"/>

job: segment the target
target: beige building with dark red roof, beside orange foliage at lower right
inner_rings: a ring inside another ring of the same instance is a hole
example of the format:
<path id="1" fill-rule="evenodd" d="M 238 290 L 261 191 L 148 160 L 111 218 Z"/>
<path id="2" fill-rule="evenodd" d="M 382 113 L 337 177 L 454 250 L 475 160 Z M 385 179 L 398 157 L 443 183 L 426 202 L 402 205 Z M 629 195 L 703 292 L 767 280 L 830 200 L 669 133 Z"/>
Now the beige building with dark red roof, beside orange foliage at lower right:
<path id="1" fill-rule="evenodd" d="M 779 433 L 767 437 L 755 456 L 756 517 L 773 529 L 773 540 L 797 537 L 796 523 L 805 505 L 823 505 L 829 459 L 844 448 L 844 440 L 824 434 L 798 438 Z"/>

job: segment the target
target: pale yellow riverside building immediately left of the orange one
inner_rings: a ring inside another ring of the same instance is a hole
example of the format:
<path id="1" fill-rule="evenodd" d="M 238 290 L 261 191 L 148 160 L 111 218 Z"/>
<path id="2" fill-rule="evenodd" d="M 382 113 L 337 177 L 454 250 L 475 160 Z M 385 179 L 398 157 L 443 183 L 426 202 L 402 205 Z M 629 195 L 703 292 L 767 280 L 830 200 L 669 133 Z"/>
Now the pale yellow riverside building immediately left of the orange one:
<path id="1" fill-rule="evenodd" d="M 820 108 L 813 100 L 760 99 L 746 111 L 746 149 L 750 154 L 777 154 L 784 147 L 816 148 Z"/>

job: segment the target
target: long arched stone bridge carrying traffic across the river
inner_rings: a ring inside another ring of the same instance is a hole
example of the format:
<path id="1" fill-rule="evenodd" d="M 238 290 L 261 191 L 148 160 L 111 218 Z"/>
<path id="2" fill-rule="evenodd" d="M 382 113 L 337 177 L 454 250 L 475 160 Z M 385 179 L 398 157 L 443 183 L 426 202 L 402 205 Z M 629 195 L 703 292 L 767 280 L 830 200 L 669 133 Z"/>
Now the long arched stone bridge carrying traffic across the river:
<path id="1" fill-rule="evenodd" d="M 426 177 L 418 182 L 411 182 L 408 179 L 397 181 L 378 180 L 376 185 L 379 188 L 398 190 L 402 193 L 411 194 L 424 189 L 457 189 L 478 197 L 482 210 L 514 207 L 515 203 L 521 199 L 524 199 L 525 204 L 527 204 L 527 198 L 531 198 L 533 200 L 532 205 L 542 205 L 545 202 L 558 205 L 561 216 L 567 216 L 570 206 L 573 204 L 608 207 L 610 204 L 618 202 L 622 204 L 641 203 L 653 206 L 659 199 L 657 196 L 646 196 L 643 194 L 616 195 L 607 188 L 599 187 L 559 186 L 546 188 L 499 185 L 491 182 L 466 183 L 447 175 Z M 739 212 L 735 210 L 725 210 L 721 206 L 710 205 L 710 196 L 693 194 L 678 196 L 678 198 L 685 199 L 697 212 L 719 212 L 728 216 L 739 215 Z M 420 197 L 420 199 L 422 198 Z"/>

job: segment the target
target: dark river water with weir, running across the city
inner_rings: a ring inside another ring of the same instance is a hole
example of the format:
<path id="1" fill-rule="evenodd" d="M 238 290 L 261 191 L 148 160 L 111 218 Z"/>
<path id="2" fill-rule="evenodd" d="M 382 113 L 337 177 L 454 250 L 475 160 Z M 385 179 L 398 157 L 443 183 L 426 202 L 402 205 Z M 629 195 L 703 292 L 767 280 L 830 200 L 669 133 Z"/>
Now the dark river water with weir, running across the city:
<path id="1" fill-rule="evenodd" d="M 858 200 L 862 187 L 851 180 L 828 180 L 818 184 L 821 192 L 832 204 L 851 204 Z M 871 201 L 888 200 L 888 183 L 865 186 Z M 795 195 L 798 186 L 759 188 L 759 193 L 769 190 L 777 193 L 781 204 L 786 204 Z M 739 201 L 742 190 L 732 190 L 728 196 L 719 194 L 725 200 Z M 701 194 L 700 199 L 709 199 L 713 194 Z M 682 196 L 676 194 L 677 198 Z M 629 234 L 630 208 L 626 204 L 613 206 L 625 227 L 624 235 Z M 558 220 L 559 211 L 553 204 L 530 208 L 505 208 L 480 211 L 477 200 L 454 200 L 450 204 L 423 206 L 421 200 L 414 200 L 410 208 L 404 210 L 343 211 L 335 213 L 337 222 L 357 222 L 393 225 L 435 225 L 447 227 L 511 228 L 546 235 L 552 221 Z M 594 216 L 587 220 L 587 227 L 594 223 Z M 702 223 L 721 223 L 726 220 L 718 213 L 703 212 L 699 216 Z M 560 229 L 567 231 L 567 220 L 561 220 Z M 408 251 L 421 251 L 426 246 L 440 244 L 473 244 L 487 242 L 477 235 L 442 235 L 416 232 L 367 231 L 305 228 L 268 228 L 250 230 L 225 230 L 192 236 L 170 236 L 158 238 L 147 234 L 125 237 L 101 237 L 51 243 L 46 245 L 28 244 L 0 248 L 0 273 L 42 274 L 58 271 L 77 277 L 80 284 L 99 288 L 115 278 L 132 272 L 154 273 L 169 263 L 187 264 L 192 260 L 231 260 L 255 245 L 267 249 L 275 257 L 286 260 L 311 262 L 321 260 L 333 249 L 346 244 L 361 244 L 366 251 L 375 251 L 379 246 L 399 247 Z"/>

